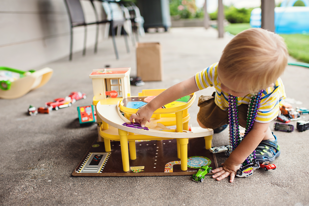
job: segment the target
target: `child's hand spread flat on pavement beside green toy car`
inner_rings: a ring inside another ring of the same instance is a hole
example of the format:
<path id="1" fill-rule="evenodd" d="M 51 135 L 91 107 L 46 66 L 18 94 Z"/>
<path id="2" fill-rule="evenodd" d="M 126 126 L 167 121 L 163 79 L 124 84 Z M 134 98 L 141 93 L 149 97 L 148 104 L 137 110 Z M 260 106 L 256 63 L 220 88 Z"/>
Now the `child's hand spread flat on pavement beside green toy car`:
<path id="1" fill-rule="evenodd" d="M 228 176 L 231 176 L 230 182 L 234 181 L 236 171 L 240 168 L 241 164 L 235 164 L 227 158 L 227 160 L 222 163 L 222 167 L 214 169 L 212 172 L 216 173 L 212 177 L 216 178 L 218 181 L 222 180 Z"/>

